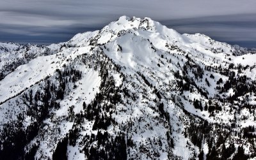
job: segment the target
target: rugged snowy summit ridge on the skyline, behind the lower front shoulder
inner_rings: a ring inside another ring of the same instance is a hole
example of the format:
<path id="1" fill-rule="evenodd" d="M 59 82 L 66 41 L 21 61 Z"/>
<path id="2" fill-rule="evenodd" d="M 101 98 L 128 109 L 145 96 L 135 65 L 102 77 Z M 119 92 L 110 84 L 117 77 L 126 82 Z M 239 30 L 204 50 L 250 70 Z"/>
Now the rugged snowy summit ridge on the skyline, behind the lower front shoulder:
<path id="1" fill-rule="evenodd" d="M 204 34 L 180 34 L 174 29 L 170 29 L 151 18 L 138 18 L 121 16 L 118 20 L 109 23 L 100 31 L 79 33 L 70 41 L 69 46 L 86 46 L 88 44 L 102 45 L 115 41 L 118 37 L 125 34 L 134 34 L 150 40 L 152 45 L 159 45 L 159 48 L 166 50 L 168 45 L 177 45 L 177 47 L 187 50 L 188 47 L 202 47 L 205 50 L 214 50 L 214 53 L 236 54 L 246 53 L 246 48 L 237 48 L 227 43 L 212 40 Z M 221 48 L 221 50 L 220 50 Z M 253 51 L 254 52 L 254 51 Z"/>

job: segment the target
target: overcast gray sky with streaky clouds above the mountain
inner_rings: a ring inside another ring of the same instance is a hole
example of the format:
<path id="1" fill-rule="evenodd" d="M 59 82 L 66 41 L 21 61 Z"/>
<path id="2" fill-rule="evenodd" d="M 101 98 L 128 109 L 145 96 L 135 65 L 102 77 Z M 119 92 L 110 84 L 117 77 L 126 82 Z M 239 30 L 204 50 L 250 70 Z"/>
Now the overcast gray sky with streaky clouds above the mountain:
<path id="1" fill-rule="evenodd" d="M 0 0 L 0 41 L 58 43 L 122 15 L 256 48 L 255 0 Z"/>

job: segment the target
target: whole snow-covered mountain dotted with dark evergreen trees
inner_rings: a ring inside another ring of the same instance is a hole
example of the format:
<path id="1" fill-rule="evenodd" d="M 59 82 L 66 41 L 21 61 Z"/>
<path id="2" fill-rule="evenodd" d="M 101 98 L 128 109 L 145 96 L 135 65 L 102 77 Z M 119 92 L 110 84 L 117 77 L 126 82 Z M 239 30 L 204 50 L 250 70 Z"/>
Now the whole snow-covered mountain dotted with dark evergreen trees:
<path id="1" fill-rule="evenodd" d="M 256 159 L 255 65 L 150 18 L 0 43 L 0 159 Z"/>

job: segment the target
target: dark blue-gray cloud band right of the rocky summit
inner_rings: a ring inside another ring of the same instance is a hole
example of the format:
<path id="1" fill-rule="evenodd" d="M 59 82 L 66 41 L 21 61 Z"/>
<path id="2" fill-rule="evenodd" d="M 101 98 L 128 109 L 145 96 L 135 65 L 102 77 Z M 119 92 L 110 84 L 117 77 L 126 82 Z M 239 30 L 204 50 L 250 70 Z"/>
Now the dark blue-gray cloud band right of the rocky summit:
<path id="1" fill-rule="evenodd" d="M 204 33 L 215 40 L 234 44 L 239 41 L 256 41 L 256 19 L 254 17 L 256 14 L 221 15 L 164 20 L 162 23 L 180 33 Z M 250 47 L 253 46 L 250 45 Z"/>

